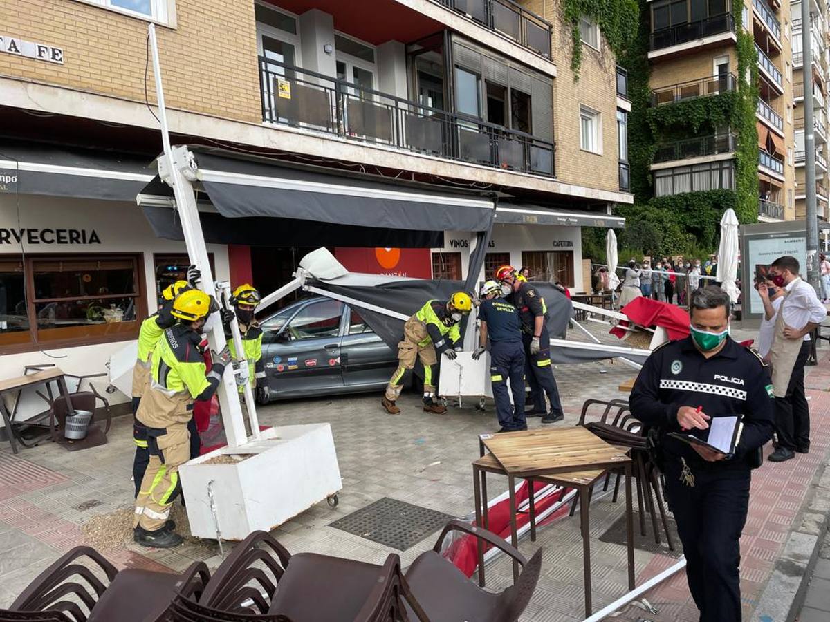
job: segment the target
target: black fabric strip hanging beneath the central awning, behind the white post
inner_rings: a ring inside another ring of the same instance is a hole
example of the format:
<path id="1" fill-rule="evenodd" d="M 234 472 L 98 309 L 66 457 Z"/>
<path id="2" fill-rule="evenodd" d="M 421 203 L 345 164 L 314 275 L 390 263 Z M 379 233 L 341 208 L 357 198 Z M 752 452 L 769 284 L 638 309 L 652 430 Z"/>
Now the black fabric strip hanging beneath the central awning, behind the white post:
<path id="1" fill-rule="evenodd" d="M 141 209 L 156 236 L 167 240 L 184 240 L 177 212 L 169 207 Z M 205 211 L 199 212 L 199 221 L 208 244 L 349 248 L 441 248 L 444 245 L 443 231 L 400 231 L 291 218 L 226 218 L 222 214 Z"/>

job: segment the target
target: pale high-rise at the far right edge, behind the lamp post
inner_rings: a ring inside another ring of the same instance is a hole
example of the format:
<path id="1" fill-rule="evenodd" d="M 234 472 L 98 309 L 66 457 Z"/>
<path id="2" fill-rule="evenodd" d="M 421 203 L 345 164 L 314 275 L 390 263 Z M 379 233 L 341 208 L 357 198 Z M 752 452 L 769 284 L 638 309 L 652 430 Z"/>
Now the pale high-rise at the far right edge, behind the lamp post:
<path id="1" fill-rule="evenodd" d="M 804 107 L 813 106 L 813 137 L 816 146 L 816 214 L 828 220 L 828 51 L 827 4 L 810 0 L 810 28 L 813 96 L 805 99 L 803 61 L 803 23 L 801 2 L 790 4 L 793 24 L 793 118 L 795 119 L 795 217 L 806 216 L 806 182 L 804 153 Z"/>

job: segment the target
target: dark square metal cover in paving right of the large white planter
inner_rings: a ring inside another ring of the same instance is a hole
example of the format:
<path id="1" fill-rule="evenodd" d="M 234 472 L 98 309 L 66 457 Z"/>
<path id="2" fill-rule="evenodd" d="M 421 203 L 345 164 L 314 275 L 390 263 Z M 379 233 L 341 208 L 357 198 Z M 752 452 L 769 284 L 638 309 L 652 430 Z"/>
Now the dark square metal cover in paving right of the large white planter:
<path id="1" fill-rule="evenodd" d="M 384 497 L 339 518 L 330 527 L 405 551 L 452 518 L 435 510 Z"/>

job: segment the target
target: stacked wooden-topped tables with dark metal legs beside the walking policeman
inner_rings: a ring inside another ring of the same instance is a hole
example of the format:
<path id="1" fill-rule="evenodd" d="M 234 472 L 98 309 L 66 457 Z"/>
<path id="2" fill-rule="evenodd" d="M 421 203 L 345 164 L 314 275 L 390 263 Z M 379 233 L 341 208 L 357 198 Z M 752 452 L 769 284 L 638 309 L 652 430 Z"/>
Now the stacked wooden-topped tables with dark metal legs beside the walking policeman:
<path id="1" fill-rule="evenodd" d="M 483 455 L 472 464 L 473 488 L 476 500 L 476 524 L 487 528 L 486 474 L 507 475 L 510 498 L 510 542 L 518 546 L 516 528 L 515 479 L 527 479 L 530 488 L 530 539 L 535 540 L 535 499 L 533 481 L 542 480 L 570 488 L 580 493 L 580 527 L 583 539 L 583 566 L 585 587 L 585 615 L 591 614 L 591 549 L 588 509 L 590 491 L 606 470 L 624 467 L 626 487 L 626 523 L 628 553 L 628 586 L 634 589 L 634 523 L 632 508 L 632 459 L 624 448 L 608 445 L 597 435 L 583 427 L 556 428 L 553 430 L 527 430 L 505 432 L 497 435 L 481 435 L 481 449 L 491 455 Z M 482 507 L 485 508 L 482 516 Z M 484 585 L 484 552 L 479 543 L 479 581 Z M 514 580 L 519 576 L 519 566 L 514 561 Z"/>

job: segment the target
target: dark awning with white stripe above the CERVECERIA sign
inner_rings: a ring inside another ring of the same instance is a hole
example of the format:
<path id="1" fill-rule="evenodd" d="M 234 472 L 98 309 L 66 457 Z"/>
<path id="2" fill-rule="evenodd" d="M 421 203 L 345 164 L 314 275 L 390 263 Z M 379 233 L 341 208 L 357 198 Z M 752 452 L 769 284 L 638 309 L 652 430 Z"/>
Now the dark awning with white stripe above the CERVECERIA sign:
<path id="1" fill-rule="evenodd" d="M 135 201 L 154 175 L 152 158 L 45 143 L 0 143 L 0 194 Z"/>

